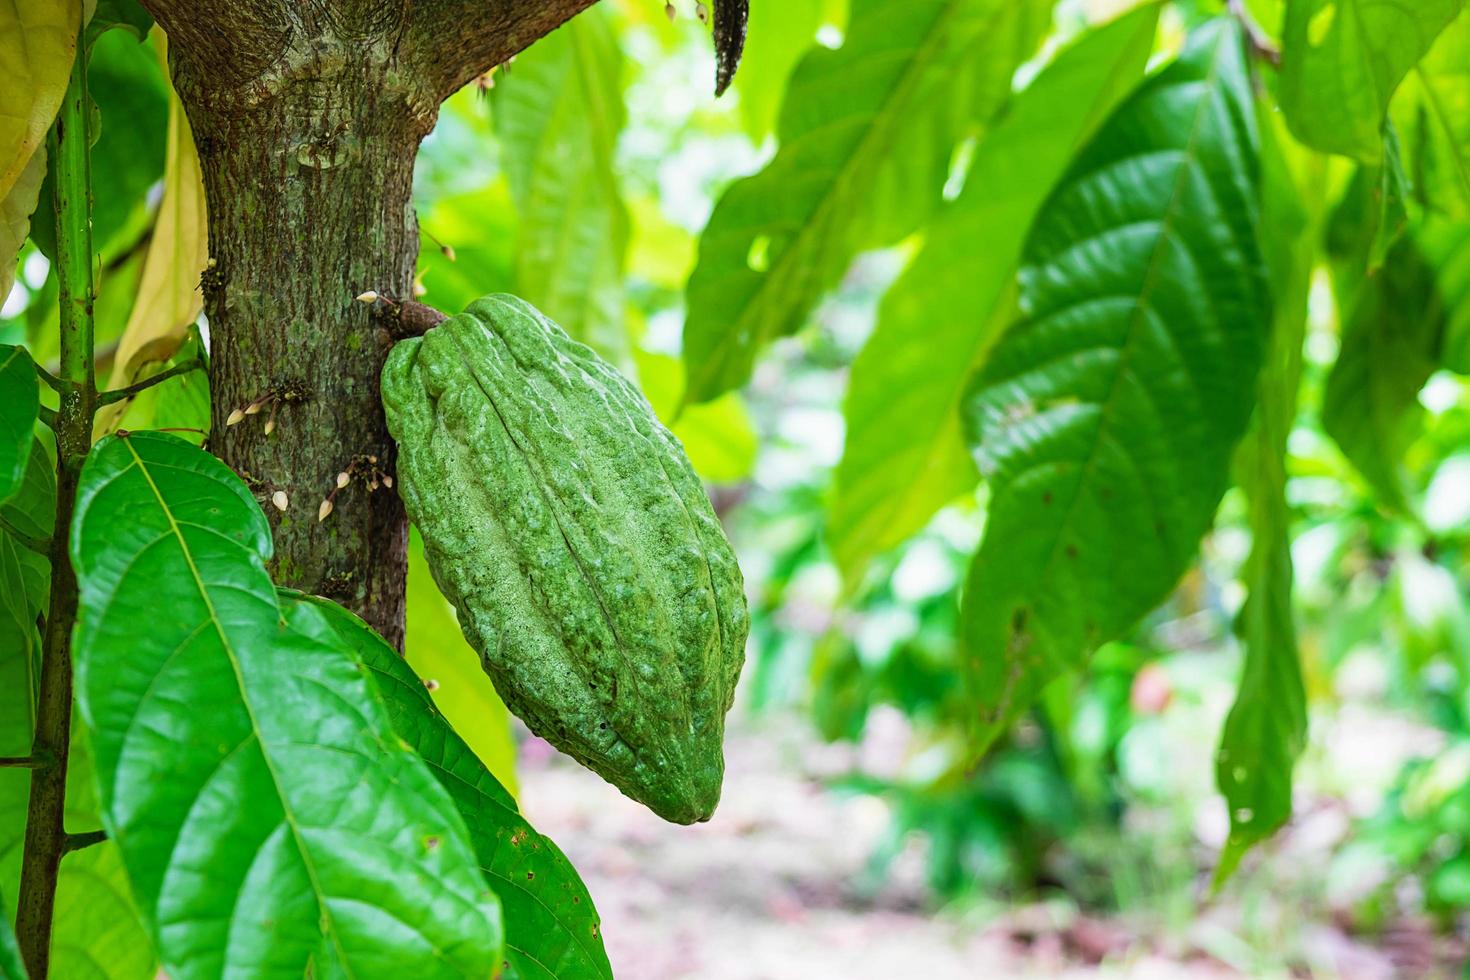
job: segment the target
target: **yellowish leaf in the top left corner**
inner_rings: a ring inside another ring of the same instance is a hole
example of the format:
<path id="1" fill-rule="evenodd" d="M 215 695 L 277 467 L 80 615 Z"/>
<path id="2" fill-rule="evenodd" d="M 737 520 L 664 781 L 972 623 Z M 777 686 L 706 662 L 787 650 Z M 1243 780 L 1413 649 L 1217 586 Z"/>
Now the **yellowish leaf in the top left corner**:
<path id="1" fill-rule="evenodd" d="M 0 200 L 46 143 L 62 106 L 81 29 L 81 0 L 10 0 L 0 4 Z"/>

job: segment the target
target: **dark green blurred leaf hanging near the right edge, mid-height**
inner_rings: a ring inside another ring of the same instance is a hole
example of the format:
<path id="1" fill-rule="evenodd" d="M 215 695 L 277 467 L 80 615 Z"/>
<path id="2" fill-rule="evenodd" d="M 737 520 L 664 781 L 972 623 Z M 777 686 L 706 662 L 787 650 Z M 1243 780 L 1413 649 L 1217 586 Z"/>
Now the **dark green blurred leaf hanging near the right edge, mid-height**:
<path id="1" fill-rule="evenodd" d="M 1439 366 L 1446 311 L 1433 267 L 1401 239 L 1379 273 L 1349 279 L 1342 350 L 1327 376 L 1322 428 L 1373 488 L 1379 502 L 1414 513 L 1404 451 L 1423 428 L 1419 391 Z"/>

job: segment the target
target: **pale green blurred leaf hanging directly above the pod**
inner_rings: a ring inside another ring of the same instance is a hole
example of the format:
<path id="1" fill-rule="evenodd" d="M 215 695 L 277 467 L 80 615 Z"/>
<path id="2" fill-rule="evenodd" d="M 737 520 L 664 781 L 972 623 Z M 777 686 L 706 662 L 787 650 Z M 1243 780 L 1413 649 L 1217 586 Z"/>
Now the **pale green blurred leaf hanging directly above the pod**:
<path id="1" fill-rule="evenodd" d="M 537 41 L 494 90 L 520 215 L 514 292 L 614 363 L 628 359 L 628 210 L 613 166 L 622 94 L 622 48 L 603 7 Z"/>

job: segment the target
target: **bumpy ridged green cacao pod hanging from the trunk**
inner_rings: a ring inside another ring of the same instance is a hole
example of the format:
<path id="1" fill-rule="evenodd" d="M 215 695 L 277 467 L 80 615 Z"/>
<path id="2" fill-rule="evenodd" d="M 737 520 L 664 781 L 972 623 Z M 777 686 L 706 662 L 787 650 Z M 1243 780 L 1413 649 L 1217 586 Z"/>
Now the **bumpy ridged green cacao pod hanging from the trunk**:
<path id="1" fill-rule="evenodd" d="M 490 295 L 397 344 L 382 400 L 429 569 L 510 710 L 660 817 L 709 820 L 750 617 L 642 394 Z"/>

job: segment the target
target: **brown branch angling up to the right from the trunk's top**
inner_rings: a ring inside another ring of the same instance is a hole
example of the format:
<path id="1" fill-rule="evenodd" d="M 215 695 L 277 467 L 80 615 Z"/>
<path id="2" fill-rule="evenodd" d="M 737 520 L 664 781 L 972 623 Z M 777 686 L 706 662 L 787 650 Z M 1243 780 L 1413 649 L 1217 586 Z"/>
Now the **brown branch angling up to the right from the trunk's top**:
<path id="1" fill-rule="evenodd" d="M 597 0 L 420 0 L 409 34 L 426 81 L 448 98 Z"/>

